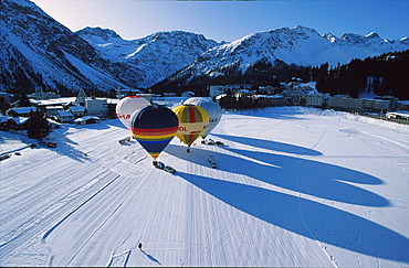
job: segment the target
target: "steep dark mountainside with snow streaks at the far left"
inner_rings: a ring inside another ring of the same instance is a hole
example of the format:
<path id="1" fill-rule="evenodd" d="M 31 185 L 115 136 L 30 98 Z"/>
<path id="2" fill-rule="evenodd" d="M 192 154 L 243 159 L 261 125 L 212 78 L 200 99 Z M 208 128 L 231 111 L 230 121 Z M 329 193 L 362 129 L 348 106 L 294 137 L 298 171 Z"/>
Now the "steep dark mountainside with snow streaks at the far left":
<path id="1" fill-rule="evenodd" d="M 2 84 L 9 90 L 77 90 L 127 87 L 125 66 L 102 58 L 93 46 L 27 0 L 1 1 Z"/>

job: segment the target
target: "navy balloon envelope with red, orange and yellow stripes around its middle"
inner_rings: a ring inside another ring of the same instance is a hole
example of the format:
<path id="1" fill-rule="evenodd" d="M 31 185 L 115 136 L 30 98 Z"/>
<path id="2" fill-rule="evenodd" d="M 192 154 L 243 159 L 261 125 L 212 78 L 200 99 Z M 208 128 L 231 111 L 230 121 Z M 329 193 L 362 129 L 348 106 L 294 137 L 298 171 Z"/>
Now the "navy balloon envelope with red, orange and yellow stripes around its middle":
<path id="1" fill-rule="evenodd" d="M 140 146 L 156 159 L 178 130 L 175 112 L 160 105 L 149 105 L 130 117 L 130 131 Z"/>

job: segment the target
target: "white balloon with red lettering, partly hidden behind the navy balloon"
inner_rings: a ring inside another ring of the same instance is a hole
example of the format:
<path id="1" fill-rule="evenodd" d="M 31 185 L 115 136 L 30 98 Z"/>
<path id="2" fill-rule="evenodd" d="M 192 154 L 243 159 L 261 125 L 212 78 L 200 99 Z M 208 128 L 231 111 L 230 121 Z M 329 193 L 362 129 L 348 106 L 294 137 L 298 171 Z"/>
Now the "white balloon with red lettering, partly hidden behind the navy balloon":
<path id="1" fill-rule="evenodd" d="M 130 128 L 130 115 L 145 106 L 150 105 L 149 100 L 139 96 L 129 96 L 120 99 L 116 105 L 116 116 L 126 128 Z"/>

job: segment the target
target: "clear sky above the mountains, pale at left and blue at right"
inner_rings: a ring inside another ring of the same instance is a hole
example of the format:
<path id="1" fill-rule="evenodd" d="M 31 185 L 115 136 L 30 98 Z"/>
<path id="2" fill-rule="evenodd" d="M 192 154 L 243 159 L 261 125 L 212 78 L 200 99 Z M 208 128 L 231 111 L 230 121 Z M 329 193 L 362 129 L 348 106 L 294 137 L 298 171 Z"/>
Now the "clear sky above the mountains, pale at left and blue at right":
<path id="1" fill-rule="evenodd" d="M 112 29 L 125 40 L 181 30 L 235 41 L 248 34 L 303 25 L 319 33 L 388 40 L 409 36 L 409 1 L 149 1 L 32 0 L 72 31 Z"/>

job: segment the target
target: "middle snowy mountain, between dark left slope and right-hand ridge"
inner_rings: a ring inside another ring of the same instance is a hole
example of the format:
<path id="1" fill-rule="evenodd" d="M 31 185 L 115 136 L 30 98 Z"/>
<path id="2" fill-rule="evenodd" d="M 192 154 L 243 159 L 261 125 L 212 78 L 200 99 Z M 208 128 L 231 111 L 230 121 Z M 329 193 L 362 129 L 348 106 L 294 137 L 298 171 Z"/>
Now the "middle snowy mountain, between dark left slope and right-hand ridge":
<path id="1" fill-rule="evenodd" d="M 92 44 L 107 61 L 126 63 L 137 71 L 137 84 L 149 87 L 188 66 L 200 54 L 218 46 L 201 34 L 170 31 L 126 41 L 108 29 L 85 28 L 77 35 Z"/>

